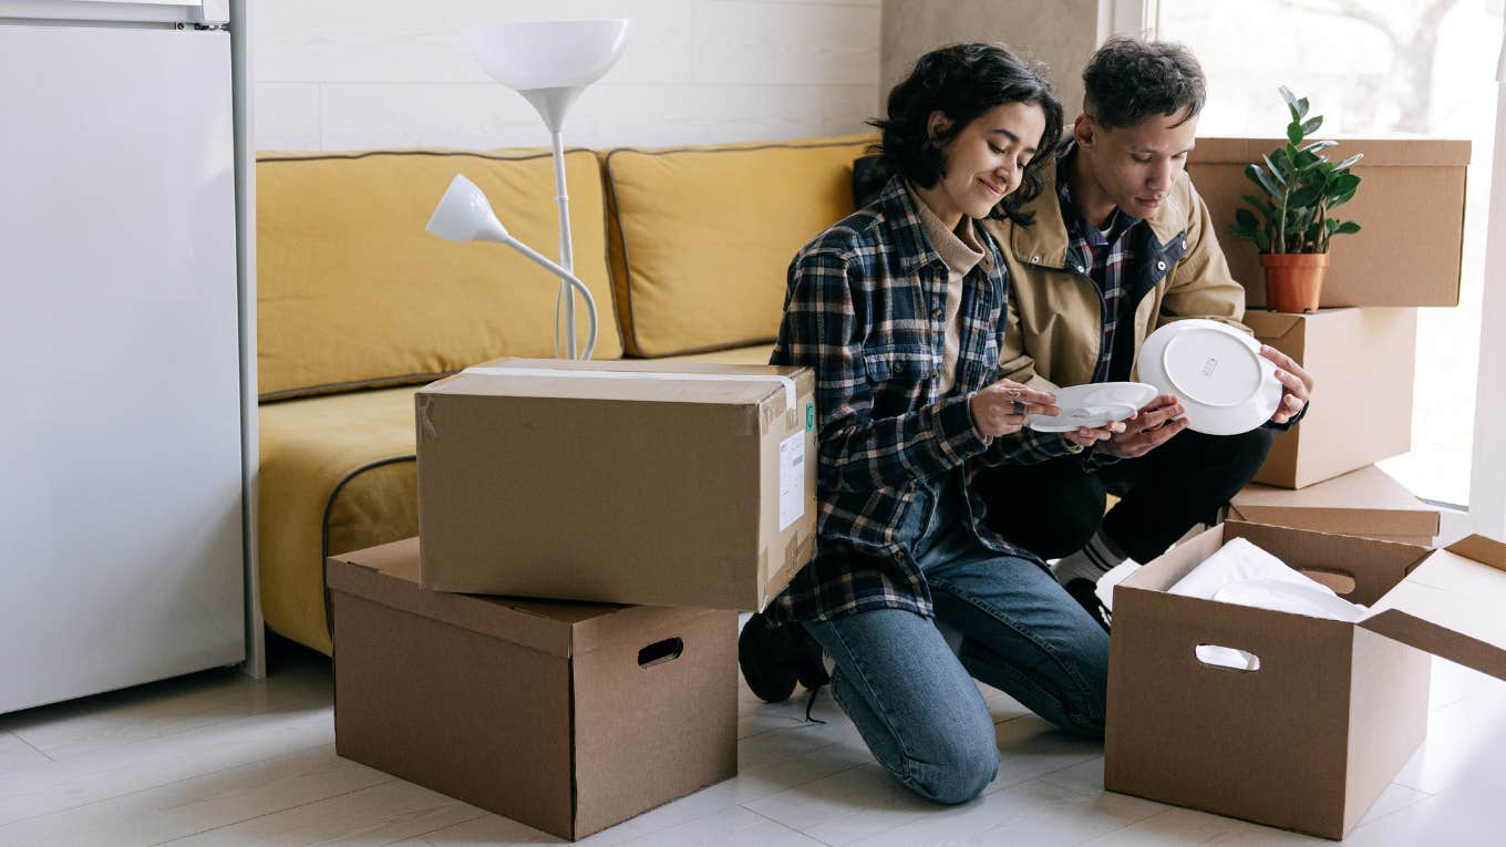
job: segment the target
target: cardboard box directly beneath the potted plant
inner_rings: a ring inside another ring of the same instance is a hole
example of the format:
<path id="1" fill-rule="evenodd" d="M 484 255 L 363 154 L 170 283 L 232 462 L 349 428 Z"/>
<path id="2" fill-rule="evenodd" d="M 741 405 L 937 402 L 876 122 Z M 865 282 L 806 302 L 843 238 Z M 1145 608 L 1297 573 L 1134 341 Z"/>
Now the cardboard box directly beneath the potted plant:
<path id="1" fill-rule="evenodd" d="M 1301 488 L 1411 449 L 1416 309 L 1250 310 L 1244 324 L 1316 380 L 1312 408 L 1276 436 L 1256 482 Z"/>

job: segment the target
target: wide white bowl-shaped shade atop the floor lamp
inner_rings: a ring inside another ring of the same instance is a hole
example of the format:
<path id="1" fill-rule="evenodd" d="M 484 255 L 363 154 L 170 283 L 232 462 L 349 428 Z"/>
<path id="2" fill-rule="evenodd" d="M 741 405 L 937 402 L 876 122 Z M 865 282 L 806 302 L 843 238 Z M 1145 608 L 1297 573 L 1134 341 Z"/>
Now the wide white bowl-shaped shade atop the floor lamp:
<path id="1" fill-rule="evenodd" d="M 626 20 L 495 24 L 470 32 L 471 51 L 498 83 L 518 90 L 580 89 L 617 63 Z"/>

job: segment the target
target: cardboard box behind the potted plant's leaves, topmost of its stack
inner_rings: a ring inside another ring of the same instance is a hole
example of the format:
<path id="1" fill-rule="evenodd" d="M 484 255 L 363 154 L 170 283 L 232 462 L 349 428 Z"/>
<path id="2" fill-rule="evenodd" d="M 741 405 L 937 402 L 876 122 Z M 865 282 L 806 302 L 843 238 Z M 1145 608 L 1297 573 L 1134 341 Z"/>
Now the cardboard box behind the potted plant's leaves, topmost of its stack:
<path id="1" fill-rule="evenodd" d="M 1259 250 L 1229 235 L 1229 223 L 1244 205 L 1241 194 L 1259 193 L 1244 167 L 1282 143 L 1197 139 L 1187 163 L 1250 306 L 1265 304 L 1265 271 Z M 1355 220 L 1361 229 L 1333 240 L 1322 306 L 1458 306 L 1470 142 L 1342 139 L 1327 155 L 1339 161 L 1354 154 L 1364 154 L 1354 167 L 1363 181 L 1334 217 Z"/>

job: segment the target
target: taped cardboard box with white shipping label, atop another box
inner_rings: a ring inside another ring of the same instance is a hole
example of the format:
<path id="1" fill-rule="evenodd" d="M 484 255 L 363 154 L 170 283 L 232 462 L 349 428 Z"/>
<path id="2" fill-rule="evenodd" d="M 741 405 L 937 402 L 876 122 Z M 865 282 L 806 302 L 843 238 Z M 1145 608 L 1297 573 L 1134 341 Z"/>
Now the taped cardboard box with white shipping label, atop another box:
<path id="1" fill-rule="evenodd" d="M 762 609 L 816 538 L 807 368 L 498 359 L 416 395 L 423 586 Z"/>

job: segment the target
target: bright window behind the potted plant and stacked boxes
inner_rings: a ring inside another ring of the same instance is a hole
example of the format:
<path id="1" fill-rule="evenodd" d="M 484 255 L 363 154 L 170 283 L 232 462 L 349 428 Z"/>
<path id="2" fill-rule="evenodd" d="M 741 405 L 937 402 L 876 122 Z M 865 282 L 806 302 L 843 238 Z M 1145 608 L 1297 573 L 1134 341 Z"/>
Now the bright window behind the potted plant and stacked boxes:
<path id="1" fill-rule="evenodd" d="M 1151 9 L 1157 36 L 1191 47 L 1208 74 L 1202 136 L 1279 137 L 1286 84 L 1312 99 L 1324 136 L 1473 142 L 1459 306 L 1419 310 L 1413 452 L 1381 463 L 1419 496 L 1453 505 L 1470 493 L 1503 5 L 1158 0 Z"/>

